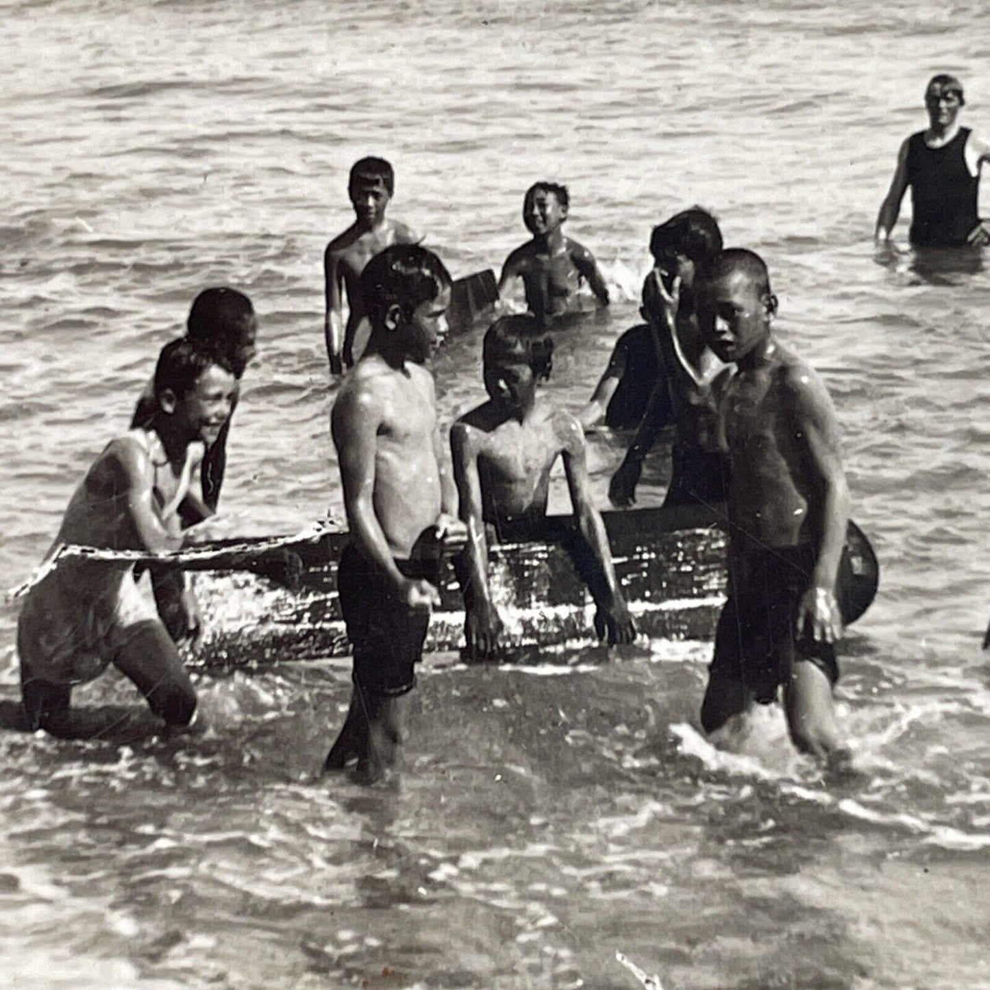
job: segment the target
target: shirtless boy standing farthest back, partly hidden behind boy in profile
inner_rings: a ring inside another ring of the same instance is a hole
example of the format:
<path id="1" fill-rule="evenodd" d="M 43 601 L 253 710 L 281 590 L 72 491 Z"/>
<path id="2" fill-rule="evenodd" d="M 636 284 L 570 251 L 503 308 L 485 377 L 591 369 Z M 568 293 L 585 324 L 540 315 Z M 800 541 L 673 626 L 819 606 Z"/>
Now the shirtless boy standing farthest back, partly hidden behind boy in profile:
<path id="1" fill-rule="evenodd" d="M 389 245 L 416 244 L 419 238 L 405 225 L 385 219 L 385 209 L 395 193 L 395 173 L 384 158 L 355 161 L 347 180 L 347 195 L 356 219 L 343 234 L 327 245 L 323 256 L 327 315 L 324 334 L 332 374 L 342 374 L 354 363 L 355 337 L 364 317 L 359 279 L 364 266 Z M 347 290 L 347 326 L 344 324 L 344 291 Z M 363 342 L 357 342 L 359 345 Z"/>

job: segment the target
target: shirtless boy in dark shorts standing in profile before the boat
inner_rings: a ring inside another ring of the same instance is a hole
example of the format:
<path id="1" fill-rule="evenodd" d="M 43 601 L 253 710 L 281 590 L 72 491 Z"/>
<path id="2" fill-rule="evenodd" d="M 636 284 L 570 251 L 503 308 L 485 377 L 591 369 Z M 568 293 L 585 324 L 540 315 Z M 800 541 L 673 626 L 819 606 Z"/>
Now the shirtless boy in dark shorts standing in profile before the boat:
<path id="1" fill-rule="evenodd" d="M 347 720 L 326 769 L 357 760 L 382 775 L 402 741 L 409 692 L 426 639 L 442 544 L 463 545 L 455 491 L 424 367 L 446 333 L 450 276 L 432 251 L 394 245 L 364 268 L 360 294 L 371 337 L 331 414 L 350 543 L 338 590 L 353 646 Z"/>

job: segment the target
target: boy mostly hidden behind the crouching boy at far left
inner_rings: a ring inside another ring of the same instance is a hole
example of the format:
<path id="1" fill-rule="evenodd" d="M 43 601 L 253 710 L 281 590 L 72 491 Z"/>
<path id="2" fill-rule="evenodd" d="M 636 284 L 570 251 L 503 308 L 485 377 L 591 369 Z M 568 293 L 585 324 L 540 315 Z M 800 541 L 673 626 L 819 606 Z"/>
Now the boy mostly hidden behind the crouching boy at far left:
<path id="1" fill-rule="evenodd" d="M 207 449 L 200 465 L 200 492 L 190 489 L 179 506 L 183 526 L 193 526 L 217 511 L 220 490 L 227 468 L 227 438 L 231 432 L 234 410 L 241 397 L 241 379 L 253 358 L 256 347 L 257 318 L 254 307 L 243 292 L 227 287 L 204 289 L 193 300 L 186 321 L 186 337 L 195 347 L 215 354 L 224 367 L 234 372 L 236 386 L 231 415 L 227 417 L 216 441 Z M 131 428 L 147 426 L 157 411 L 154 382 L 148 383 L 131 421 Z M 187 578 L 175 569 L 151 568 L 151 586 L 158 612 L 176 640 L 188 632 L 190 617 L 182 605 Z"/>

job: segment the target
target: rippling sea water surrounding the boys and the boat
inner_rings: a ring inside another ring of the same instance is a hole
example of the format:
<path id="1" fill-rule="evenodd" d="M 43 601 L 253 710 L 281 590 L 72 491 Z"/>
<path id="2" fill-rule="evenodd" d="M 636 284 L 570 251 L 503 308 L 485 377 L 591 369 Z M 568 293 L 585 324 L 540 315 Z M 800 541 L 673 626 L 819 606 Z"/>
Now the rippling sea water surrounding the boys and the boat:
<path id="1" fill-rule="evenodd" d="M 397 172 L 390 212 L 455 276 L 525 238 L 538 178 L 615 287 L 561 337 L 576 407 L 637 320 L 651 227 L 693 203 L 767 259 L 782 339 L 835 397 L 855 519 L 883 568 L 838 689 L 859 774 L 823 778 L 780 712 L 712 744 L 709 646 L 421 678 L 406 768 L 318 770 L 347 670 L 198 679 L 212 726 L 0 729 L 0 984 L 38 987 L 990 987 L 990 276 L 874 258 L 930 75 L 990 129 L 976 0 L 3 5 L 0 576 L 37 563 L 158 347 L 210 284 L 255 302 L 222 507 L 232 533 L 340 511 L 322 251 L 347 169 Z M 907 209 L 907 208 L 906 208 Z M 902 225 L 902 239 L 904 230 Z M 970 259 L 971 260 L 971 259 Z M 437 364 L 443 414 L 482 394 L 479 333 Z M 592 439 L 606 504 L 619 438 Z M 641 504 L 662 495 L 648 466 Z M 16 614 L 0 611 L 0 724 Z"/>

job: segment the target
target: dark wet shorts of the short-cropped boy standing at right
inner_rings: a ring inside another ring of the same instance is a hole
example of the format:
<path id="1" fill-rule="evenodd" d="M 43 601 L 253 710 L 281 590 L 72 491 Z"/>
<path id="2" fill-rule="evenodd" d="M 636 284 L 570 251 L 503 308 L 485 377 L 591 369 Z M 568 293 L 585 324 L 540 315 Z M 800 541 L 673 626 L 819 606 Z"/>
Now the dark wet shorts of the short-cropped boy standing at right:
<path id="1" fill-rule="evenodd" d="M 808 544 L 768 548 L 750 558 L 744 582 L 730 573 L 729 601 L 715 633 L 713 678 L 741 682 L 762 704 L 773 701 L 777 687 L 787 683 L 795 660 L 814 663 L 833 684 L 839 680 L 835 644 L 807 634 L 795 637 L 798 606 L 811 584 L 816 556 Z M 843 550 L 837 598 L 848 566 Z"/>

